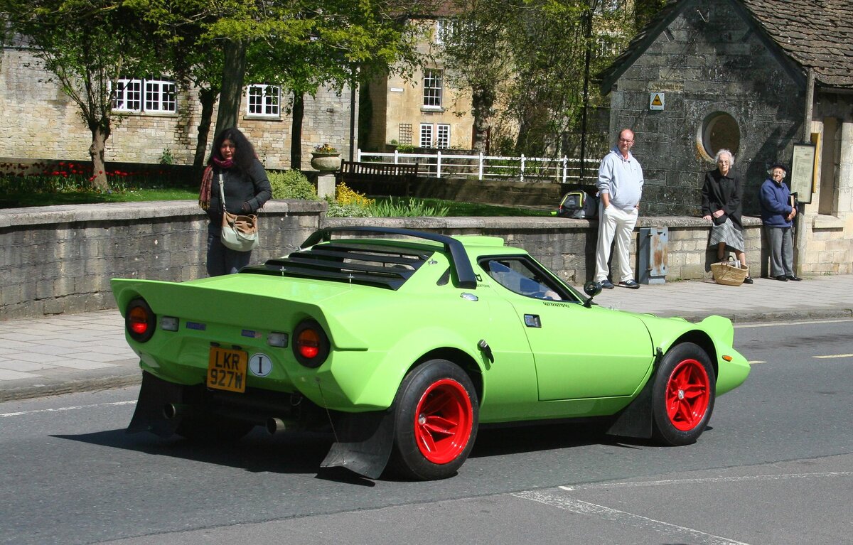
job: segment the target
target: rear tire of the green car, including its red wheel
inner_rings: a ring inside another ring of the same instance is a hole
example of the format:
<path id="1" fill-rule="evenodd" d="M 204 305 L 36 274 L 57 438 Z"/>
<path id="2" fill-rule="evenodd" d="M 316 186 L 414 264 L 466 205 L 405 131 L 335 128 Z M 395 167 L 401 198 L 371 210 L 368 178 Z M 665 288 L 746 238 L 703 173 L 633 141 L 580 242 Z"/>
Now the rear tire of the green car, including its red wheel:
<path id="1" fill-rule="evenodd" d="M 471 453 L 479 425 L 479 401 L 465 371 L 438 359 L 412 369 L 393 411 L 392 472 L 416 480 L 455 475 Z"/>

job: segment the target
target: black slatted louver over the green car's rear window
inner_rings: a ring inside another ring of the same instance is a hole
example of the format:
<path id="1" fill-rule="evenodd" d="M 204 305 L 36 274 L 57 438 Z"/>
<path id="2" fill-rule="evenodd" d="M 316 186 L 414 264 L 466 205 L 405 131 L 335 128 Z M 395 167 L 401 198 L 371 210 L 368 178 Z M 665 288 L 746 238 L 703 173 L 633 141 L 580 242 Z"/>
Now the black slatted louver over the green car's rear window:
<path id="1" fill-rule="evenodd" d="M 243 268 L 241 274 L 281 275 L 349 282 L 396 290 L 432 252 L 411 247 L 334 241 L 293 252 L 287 258 Z"/>

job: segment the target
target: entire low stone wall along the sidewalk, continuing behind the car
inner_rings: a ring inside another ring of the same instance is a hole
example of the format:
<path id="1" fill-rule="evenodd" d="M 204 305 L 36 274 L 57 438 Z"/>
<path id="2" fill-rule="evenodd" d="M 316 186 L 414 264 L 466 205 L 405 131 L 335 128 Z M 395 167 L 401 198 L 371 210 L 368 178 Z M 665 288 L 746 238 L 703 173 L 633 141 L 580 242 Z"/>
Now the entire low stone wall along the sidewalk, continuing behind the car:
<path id="1" fill-rule="evenodd" d="M 253 263 L 293 252 L 318 227 L 371 226 L 494 235 L 521 246 L 567 282 L 591 278 L 595 220 L 561 217 L 324 218 L 325 203 L 273 200 L 261 214 Z M 745 218 L 757 258 L 759 221 Z M 709 276 L 708 225 L 694 217 L 641 217 L 669 227 L 667 281 Z M 0 319 L 113 308 L 113 277 L 187 281 L 205 273 L 206 216 L 192 201 L 44 206 L 0 210 Z M 631 264 L 636 269 L 636 235 Z M 755 273 L 753 273 L 755 274 Z"/>

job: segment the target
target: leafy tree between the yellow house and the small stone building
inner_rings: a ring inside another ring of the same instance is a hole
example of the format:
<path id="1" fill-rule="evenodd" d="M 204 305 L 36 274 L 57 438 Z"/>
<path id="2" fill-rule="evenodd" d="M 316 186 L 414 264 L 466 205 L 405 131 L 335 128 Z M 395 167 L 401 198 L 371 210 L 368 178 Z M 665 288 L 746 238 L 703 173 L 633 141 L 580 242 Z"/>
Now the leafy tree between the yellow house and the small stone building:
<path id="1" fill-rule="evenodd" d="M 454 5 L 454 32 L 440 58 L 447 80 L 471 93 L 474 147 L 484 148 L 491 128 L 506 153 L 565 153 L 563 136 L 583 125 L 589 101 L 599 101 L 585 92 L 585 74 L 615 57 L 608 43 L 628 42 L 629 14 L 601 0 Z"/>

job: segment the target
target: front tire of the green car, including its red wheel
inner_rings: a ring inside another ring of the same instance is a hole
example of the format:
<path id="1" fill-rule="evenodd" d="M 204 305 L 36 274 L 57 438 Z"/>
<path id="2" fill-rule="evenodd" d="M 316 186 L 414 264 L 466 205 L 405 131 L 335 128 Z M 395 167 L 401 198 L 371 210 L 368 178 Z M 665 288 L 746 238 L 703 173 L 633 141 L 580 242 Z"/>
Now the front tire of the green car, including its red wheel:
<path id="1" fill-rule="evenodd" d="M 705 351 L 693 343 L 673 346 L 654 378 L 653 437 L 671 446 L 695 443 L 711 420 L 715 397 L 717 376 Z"/>

